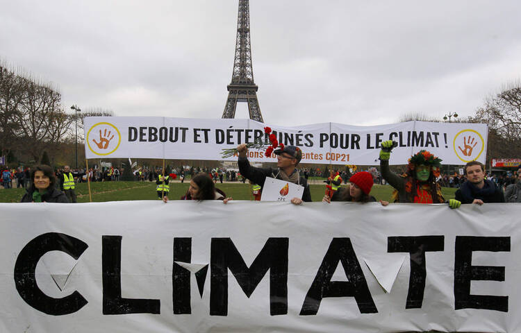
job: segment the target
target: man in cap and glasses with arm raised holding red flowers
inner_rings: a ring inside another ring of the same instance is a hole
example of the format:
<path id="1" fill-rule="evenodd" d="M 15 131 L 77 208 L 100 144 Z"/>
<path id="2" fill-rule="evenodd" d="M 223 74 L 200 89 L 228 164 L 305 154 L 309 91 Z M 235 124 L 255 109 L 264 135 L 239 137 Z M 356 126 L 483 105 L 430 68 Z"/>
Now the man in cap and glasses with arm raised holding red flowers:
<path id="1" fill-rule="evenodd" d="M 291 203 L 300 205 L 303 201 L 311 202 L 311 191 L 309 190 L 308 182 L 306 178 L 300 176 L 299 171 L 296 169 L 302 159 L 302 151 L 299 147 L 284 146 L 273 152 L 277 155 L 276 166 L 279 169 L 251 167 L 246 156 L 248 152 L 246 144 L 237 146 L 237 151 L 239 153 L 239 171 L 243 177 L 261 185 L 261 187 L 264 187 L 266 177 L 292 182 L 304 187 L 304 192 L 302 198 L 292 198 Z"/>

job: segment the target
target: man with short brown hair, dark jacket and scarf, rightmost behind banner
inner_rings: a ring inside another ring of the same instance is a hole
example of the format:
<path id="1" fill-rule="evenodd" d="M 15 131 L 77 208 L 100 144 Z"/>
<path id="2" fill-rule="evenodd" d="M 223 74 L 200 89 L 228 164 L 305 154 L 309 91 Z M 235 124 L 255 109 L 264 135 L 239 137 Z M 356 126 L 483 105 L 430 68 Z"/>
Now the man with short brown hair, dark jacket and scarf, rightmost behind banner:
<path id="1" fill-rule="evenodd" d="M 477 161 L 465 164 L 467 181 L 456 191 L 456 200 L 461 203 L 504 203 L 505 198 L 500 187 L 485 179 L 485 166 Z"/>

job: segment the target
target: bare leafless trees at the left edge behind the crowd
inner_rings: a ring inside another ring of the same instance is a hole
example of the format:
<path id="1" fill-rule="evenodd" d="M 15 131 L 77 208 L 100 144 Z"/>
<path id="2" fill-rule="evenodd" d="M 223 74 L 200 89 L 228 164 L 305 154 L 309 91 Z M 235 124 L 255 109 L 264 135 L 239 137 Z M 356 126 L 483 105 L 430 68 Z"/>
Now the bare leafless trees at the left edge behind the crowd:
<path id="1" fill-rule="evenodd" d="M 67 158 L 72 154 L 64 156 L 64 151 L 74 146 L 76 115 L 65 112 L 61 99 L 52 83 L 0 64 L 0 155 L 8 162 L 72 162 Z M 78 114 L 79 130 L 83 117 L 92 115 L 112 113 L 94 108 Z"/>

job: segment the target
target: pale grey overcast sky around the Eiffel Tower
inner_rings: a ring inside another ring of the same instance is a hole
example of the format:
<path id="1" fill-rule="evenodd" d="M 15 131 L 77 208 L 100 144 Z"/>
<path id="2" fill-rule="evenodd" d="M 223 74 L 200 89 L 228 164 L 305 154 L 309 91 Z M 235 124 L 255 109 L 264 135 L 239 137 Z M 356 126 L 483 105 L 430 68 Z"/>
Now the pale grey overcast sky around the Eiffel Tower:
<path id="1" fill-rule="evenodd" d="M 0 60 L 54 83 L 67 112 L 222 116 L 238 0 L 0 2 Z M 518 0 L 251 0 L 264 121 L 472 115 L 521 76 L 520 13 Z"/>

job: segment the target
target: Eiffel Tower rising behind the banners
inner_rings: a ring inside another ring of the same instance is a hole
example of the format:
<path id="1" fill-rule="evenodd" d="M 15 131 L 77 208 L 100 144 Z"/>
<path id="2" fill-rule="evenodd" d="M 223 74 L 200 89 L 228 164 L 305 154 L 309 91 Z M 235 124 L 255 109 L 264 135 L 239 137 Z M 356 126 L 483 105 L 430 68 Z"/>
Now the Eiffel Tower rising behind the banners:
<path id="1" fill-rule="evenodd" d="M 224 105 L 222 118 L 235 118 L 237 102 L 247 102 L 249 119 L 263 123 L 261 108 L 258 106 L 254 70 L 251 68 L 251 45 L 249 40 L 249 0 L 239 0 L 237 18 L 237 40 L 231 83 L 227 86 L 228 99 Z"/>

